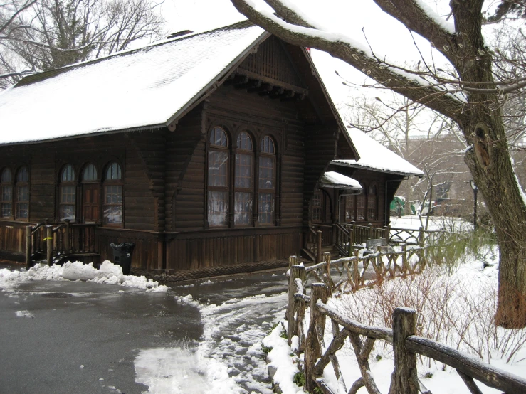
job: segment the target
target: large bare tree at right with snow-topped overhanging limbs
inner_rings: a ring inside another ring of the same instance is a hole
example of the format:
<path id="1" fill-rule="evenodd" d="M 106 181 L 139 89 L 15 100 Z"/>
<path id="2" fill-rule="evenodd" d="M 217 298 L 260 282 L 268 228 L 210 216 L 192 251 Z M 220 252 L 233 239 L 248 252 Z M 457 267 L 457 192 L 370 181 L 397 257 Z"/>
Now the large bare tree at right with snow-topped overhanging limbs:
<path id="1" fill-rule="evenodd" d="M 254 23 L 294 45 L 316 48 L 344 60 L 379 85 L 458 124 L 469 147 L 464 160 L 495 222 L 500 247 L 499 325 L 526 326 L 526 203 L 510 161 L 501 107 L 506 95 L 520 92 L 526 78 L 495 80 L 491 50 L 485 45 L 483 0 L 451 0 L 453 26 L 419 0 L 374 0 L 386 13 L 423 37 L 448 61 L 442 71 L 422 59 L 417 72 L 387 64 L 372 50 L 327 34 L 305 21 L 287 1 L 265 0 L 273 12 L 252 1 L 231 0 Z M 337 10 L 335 10 L 336 12 Z"/>

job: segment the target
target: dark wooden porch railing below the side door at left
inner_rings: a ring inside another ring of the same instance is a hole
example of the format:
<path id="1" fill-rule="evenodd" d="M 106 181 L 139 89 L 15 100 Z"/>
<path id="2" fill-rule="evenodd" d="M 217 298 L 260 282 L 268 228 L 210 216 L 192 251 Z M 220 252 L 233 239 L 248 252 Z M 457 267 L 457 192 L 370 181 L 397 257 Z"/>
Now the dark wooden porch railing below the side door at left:
<path id="1" fill-rule="evenodd" d="M 48 265 L 53 260 L 70 255 L 98 253 L 95 243 L 95 223 L 48 223 L 26 226 L 26 266 L 46 257 Z"/>

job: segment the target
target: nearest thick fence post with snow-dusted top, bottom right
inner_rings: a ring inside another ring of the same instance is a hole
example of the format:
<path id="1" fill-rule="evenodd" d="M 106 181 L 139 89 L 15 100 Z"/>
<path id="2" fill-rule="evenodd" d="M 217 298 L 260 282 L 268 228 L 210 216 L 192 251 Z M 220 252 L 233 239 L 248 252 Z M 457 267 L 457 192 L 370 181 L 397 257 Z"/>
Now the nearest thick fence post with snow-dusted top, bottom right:
<path id="1" fill-rule="evenodd" d="M 414 309 L 399 307 L 393 312 L 393 356 L 394 390 L 389 393 L 418 394 L 416 376 L 416 354 L 406 349 L 406 338 L 415 334 L 416 312 Z"/>

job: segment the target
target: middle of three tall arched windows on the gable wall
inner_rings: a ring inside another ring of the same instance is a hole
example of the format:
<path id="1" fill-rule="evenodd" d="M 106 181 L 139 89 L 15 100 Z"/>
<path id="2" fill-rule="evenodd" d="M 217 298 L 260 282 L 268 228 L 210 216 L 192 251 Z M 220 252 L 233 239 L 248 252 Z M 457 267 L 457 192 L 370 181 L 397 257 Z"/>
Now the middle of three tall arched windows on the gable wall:
<path id="1" fill-rule="evenodd" d="M 254 171 L 252 139 L 247 132 L 238 135 L 237 148 L 233 221 L 236 225 L 250 225 L 253 215 Z"/>

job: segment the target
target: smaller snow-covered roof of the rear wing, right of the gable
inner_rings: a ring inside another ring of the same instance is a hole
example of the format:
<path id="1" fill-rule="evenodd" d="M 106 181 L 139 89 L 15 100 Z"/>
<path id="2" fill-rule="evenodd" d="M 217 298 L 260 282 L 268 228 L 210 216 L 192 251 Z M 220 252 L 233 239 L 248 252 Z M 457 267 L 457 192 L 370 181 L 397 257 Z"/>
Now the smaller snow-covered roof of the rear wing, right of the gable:
<path id="1" fill-rule="evenodd" d="M 385 172 L 388 174 L 417 175 L 424 173 L 417 169 L 413 164 L 402 159 L 393 151 L 390 151 L 379 142 L 374 141 L 358 129 L 348 129 L 354 147 L 356 147 L 359 160 L 333 160 L 332 164 L 337 166 L 347 166 L 354 168 L 372 169 L 374 171 Z"/>

